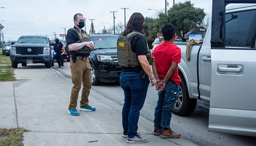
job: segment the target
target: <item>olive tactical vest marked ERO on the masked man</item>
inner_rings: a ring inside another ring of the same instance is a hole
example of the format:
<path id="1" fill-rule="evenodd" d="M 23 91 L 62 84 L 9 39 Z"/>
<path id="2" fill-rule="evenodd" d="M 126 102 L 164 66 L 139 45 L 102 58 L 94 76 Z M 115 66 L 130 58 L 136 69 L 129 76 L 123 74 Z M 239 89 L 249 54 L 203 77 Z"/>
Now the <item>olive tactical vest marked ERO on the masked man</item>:
<path id="1" fill-rule="evenodd" d="M 82 42 L 89 42 L 90 41 L 88 35 L 83 30 L 82 30 L 82 32 L 80 32 L 79 30 L 76 30 L 74 28 L 70 28 L 69 30 L 75 31 L 78 34 L 78 36 L 79 36 L 79 40 L 76 41 L 75 43 L 82 43 Z M 67 33 L 69 32 L 69 30 L 67 31 Z M 71 51 L 71 50 L 69 50 L 68 47 L 67 47 L 67 49 L 68 49 L 68 51 Z M 72 51 L 72 52 L 85 54 L 85 53 L 91 53 L 91 50 L 90 50 L 89 47 L 84 46 L 81 49 L 76 50 L 76 51 Z"/>

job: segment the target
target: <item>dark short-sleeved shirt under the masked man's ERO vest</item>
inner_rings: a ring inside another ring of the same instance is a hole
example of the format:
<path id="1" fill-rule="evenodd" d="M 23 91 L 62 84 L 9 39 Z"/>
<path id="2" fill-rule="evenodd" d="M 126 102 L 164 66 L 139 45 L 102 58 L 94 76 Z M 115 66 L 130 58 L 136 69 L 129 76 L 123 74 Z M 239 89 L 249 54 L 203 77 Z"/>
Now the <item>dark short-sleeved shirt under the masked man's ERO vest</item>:
<path id="1" fill-rule="evenodd" d="M 74 29 L 78 30 L 75 26 L 74 26 Z M 84 30 L 82 30 L 82 33 L 84 33 Z M 69 46 L 72 43 L 76 43 L 76 41 L 78 41 L 78 40 L 80 40 L 80 39 L 79 39 L 78 34 L 75 31 L 70 30 L 67 33 L 67 36 L 66 36 L 67 46 Z M 90 55 L 90 53 L 85 53 L 85 54 L 76 53 L 76 56 L 82 56 L 82 57 L 88 57 L 89 55 Z"/>

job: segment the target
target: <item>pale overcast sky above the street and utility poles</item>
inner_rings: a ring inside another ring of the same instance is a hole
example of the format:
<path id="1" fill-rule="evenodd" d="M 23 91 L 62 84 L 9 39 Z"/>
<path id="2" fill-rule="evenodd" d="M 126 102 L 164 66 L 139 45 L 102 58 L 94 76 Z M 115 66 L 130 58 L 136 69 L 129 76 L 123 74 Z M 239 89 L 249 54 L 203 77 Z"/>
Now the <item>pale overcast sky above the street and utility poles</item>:
<path id="1" fill-rule="evenodd" d="M 173 1 L 168 1 L 172 7 Z M 175 0 L 175 3 L 185 0 Z M 212 12 L 212 0 L 191 0 L 195 7 L 204 9 L 206 14 Z M 86 18 L 86 31 L 89 33 L 91 20 L 96 33 L 102 33 L 112 27 L 113 12 L 115 25 L 124 23 L 124 9 L 126 9 L 126 24 L 134 12 L 140 12 L 144 17 L 155 17 L 157 11 L 165 12 L 165 0 L 1 0 L 0 23 L 5 41 L 17 40 L 21 35 L 47 35 L 54 38 L 54 32 L 59 39 L 69 28 L 74 26 L 73 16 L 81 13 Z M 155 10 L 148 10 L 155 9 Z M 157 10 L 157 11 L 156 11 Z M 2 21 L 4 20 L 4 21 Z M 103 23 L 102 23 L 103 22 Z M 112 26 L 111 26 L 112 25 Z M 83 28 L 84 29 L 84 28 Z M 65 38 L 64 38 L 65 40 Z"/>

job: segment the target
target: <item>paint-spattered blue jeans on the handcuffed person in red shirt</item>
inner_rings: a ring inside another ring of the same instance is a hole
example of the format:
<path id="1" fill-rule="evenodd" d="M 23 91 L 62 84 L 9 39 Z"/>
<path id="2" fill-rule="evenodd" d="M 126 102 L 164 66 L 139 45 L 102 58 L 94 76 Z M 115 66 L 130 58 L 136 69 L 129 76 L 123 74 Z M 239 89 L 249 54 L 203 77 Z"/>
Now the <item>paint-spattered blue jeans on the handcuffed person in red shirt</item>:
<path id="1" fill-rule="evenodd" d="M 172 109 L 179 96 L 180 85 L 173 81 L 166 83 L 165 89 L 158 92 L 158 101 L 155 108 L 154 127 L 158 129 L 169 128 L 172 118 Z"/>

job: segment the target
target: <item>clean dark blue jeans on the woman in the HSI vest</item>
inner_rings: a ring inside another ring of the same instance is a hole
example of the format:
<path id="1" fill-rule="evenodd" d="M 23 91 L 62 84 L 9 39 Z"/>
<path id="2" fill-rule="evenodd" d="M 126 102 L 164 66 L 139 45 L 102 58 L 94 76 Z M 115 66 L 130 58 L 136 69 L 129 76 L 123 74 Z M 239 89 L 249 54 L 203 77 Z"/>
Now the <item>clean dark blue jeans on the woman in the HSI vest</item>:
<path id="1" fill-rule="evenodd" d="M 123 134 L 128 134 L 128 138 L 137 135 L 140 110 L 146 99 L 148 84 L 148 76 L 144 80 L 140 73 L 121 72 L 120 86 L 124 91 Z"/>

